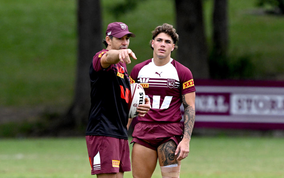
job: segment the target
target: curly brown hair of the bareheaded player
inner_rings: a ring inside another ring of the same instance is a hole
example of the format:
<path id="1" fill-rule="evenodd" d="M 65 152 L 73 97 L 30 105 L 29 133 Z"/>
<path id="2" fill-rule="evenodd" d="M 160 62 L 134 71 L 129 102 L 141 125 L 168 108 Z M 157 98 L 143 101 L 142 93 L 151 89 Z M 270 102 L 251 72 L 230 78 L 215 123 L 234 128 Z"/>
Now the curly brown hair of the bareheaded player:
<path id="1" fill-rule="evenodd" d="M 152 40 L 155 39 L 155 37 L 159 33 L 165 33 L 172 37 L 175 44 L 174 50 L 178 49 L 178 46 L 176 45 L 176 43 L 178 42 L 178 34 L 176 33 L 176 30 L 172 25 L 164 23 L 162 26 L 158 26 L 154 31 L 152 31 L 152 39 L 150 40 L 150 47 L 152 48 L 152 50 L 154 50 L 154 48 L 152 47 Z"/>

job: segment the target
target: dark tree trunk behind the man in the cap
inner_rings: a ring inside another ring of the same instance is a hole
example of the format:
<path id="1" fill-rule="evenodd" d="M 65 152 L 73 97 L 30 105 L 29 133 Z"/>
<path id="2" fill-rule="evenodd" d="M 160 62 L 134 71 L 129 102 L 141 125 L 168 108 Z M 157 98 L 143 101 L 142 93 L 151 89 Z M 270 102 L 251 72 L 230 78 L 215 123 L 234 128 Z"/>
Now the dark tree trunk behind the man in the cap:
<path id="1" fill-rule="evenodd" d="M 75 127 L 85 127 L 90 109 L 89 69 L 93 56 L 102 49 L 99 0 L 78 0 L 78 60 L 75 96 L 67 114 Z"/>

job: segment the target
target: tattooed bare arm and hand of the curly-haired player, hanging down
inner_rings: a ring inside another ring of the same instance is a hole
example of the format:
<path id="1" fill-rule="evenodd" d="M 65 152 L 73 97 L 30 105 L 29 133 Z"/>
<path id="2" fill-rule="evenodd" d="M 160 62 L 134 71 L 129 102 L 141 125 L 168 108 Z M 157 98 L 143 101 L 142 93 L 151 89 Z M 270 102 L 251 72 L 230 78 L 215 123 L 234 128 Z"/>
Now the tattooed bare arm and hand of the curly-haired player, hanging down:
<path id="1" fill-rule="evenodd" d="M 189 152 L 189 142 L 195 122 L 195 92 L 182 95 L 182 102 L 184 106 L 184 135 L 175 151 L 175 155 L 177 155 L 180 151 L 177 158 L 178 161 L 187 157 Z"/>

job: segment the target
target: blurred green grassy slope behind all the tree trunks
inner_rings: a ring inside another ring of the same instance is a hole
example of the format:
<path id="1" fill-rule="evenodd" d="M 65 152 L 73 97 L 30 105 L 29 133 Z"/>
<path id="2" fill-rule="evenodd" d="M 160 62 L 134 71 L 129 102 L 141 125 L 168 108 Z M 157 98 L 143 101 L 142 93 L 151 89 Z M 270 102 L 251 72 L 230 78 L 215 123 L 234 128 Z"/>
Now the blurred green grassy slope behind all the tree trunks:
<path id="1" fill-rule="evenodd" d="M 102 35 L 113 21 L 125 22 L 136 34 L 130 48 L 138 61 L 128 66 L 130 72 L 133 65 L 151 58 L 148 44 L 151 30 L 164 22 L 175 25 L 175 5 L 173 0 L 144 0 L 135 9 L 116 17 L 108 7 L 122 1 L 101 1 Z M 0 0 L 1 107 L 56 108 L 71 103 L 77 57 L 76 2 Z M 213 0 L 204 2 L 210 47 Z M 255 78 L 283 74 L 284 17 L 255 13 L 256 0 L 228 2 L 231 60 L 249 58 L 258 68 L 252 74 Z M 172 57 L 175 58 L 175 52 Z"/>

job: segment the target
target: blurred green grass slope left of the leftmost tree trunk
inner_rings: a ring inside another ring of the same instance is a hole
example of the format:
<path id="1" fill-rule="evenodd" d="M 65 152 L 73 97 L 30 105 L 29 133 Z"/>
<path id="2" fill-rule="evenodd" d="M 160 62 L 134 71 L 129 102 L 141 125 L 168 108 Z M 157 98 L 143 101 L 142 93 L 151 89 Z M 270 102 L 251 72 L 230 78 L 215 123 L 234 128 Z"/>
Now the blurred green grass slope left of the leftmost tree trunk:
<path id="1" fill-rule="evenodd" d="M 76 1 L 0 6 L 0 106 L 70 102 L 76 65 Z"/>

